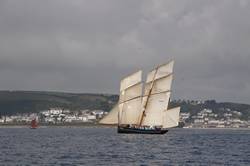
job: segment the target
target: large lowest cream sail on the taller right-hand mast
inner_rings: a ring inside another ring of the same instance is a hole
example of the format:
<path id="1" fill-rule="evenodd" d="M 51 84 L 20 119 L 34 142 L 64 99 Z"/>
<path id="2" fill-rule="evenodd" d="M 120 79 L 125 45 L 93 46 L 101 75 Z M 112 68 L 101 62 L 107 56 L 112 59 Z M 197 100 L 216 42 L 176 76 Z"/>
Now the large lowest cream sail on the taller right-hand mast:
<path id="1" fill-rule="evenodd" d="M 168 108 L 168 101 L 170 92 L 151 95 L 148 99 L 145 116 L 143 117 L 143 126 L 162 126 L 163 112 Z M 146 97 L 144 97 L 143 104 L 145 105 Z"/>

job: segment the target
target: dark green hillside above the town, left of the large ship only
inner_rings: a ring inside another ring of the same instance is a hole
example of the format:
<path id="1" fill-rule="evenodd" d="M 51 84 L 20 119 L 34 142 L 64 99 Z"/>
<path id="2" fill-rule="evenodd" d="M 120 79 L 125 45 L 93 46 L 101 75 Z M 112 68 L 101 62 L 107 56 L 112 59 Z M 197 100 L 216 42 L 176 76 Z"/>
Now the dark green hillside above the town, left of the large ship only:
<path id="1" fill-rule="evenodd" d="M 82 109 L 109 111 L 117 101 L 117 95 L 108 94 L 0 91 L 0 114 L 39 112 L 53 107 L 73 111 Z"/>

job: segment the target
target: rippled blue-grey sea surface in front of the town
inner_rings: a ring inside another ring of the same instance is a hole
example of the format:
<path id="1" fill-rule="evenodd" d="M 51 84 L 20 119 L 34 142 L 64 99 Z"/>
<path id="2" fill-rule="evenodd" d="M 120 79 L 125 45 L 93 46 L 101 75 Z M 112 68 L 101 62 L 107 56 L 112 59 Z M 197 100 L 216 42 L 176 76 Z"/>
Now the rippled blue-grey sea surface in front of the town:
<path id="1" fill-rule="evenodd" d="M 165 135 L 116 128 L 0 128 L 0 165 L 250 165 L 250 130 L 172 129 Z"/>

